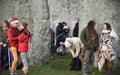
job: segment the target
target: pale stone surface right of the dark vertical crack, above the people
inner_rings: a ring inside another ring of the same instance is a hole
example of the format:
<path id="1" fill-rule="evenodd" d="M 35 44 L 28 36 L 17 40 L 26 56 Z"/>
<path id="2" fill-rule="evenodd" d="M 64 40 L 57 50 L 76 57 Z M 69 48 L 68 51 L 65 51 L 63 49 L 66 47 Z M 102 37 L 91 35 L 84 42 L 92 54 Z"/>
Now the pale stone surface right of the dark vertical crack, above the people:
<path id="1" fill-rule="evenodd" d="M 108 22 L 120 37 L 119 0 L 48 0 L 48 2 L 52 29 L 55 29 L 58 22 L 66 21 L 72 32 L 74 24 L 79 19 L 79 32 L 81 33 L 90 20 L 95 20 L 99 36 L 103 23 Z"/>

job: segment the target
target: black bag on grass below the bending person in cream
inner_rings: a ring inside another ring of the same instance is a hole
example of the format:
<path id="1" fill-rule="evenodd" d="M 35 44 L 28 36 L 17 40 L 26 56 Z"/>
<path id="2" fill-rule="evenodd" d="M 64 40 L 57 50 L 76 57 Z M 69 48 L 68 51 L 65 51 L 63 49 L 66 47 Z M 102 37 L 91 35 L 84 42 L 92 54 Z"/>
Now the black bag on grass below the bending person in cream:
<path id="1" fill-rule="evenodd" d="M 70 70 L 78 71 L 82 68 L 82 62 L 79 57 L 72 58 Z"/>

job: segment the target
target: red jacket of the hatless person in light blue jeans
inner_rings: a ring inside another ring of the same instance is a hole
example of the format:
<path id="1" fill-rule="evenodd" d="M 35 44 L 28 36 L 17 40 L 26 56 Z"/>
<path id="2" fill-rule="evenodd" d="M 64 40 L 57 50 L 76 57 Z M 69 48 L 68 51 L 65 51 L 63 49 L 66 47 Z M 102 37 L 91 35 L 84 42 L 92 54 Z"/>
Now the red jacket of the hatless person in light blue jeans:
<path id="1" fill-rule="evenodd" d="M 18 51 L 28 51 L 28 41 L 30 38 L 30 32 L 27 29 L 23 29 L 21 34 L 18 36 Z"/>

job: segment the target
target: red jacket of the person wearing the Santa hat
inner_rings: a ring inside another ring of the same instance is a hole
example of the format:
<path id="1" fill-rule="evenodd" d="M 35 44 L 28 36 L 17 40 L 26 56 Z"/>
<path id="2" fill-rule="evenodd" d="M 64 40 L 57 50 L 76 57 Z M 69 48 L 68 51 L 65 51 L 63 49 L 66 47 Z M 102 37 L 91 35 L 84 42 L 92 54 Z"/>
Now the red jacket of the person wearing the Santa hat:
<path id="1" fill-rule="evenodd" d="M 8 40 L 11 47 L 17 47 L 18 46 L 18 35 L 19 30 L 16 27 L 11 26 L 8 31 Z"/>

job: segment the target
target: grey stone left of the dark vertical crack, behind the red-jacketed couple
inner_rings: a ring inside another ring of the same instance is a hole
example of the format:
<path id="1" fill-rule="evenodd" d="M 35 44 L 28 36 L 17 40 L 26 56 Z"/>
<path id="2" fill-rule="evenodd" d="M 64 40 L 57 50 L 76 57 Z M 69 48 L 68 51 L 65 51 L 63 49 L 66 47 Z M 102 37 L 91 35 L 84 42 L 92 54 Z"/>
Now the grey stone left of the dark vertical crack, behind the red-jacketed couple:
<path id="1" fill-rule="evenodd" d="M 33 34 L 30 49 L 30 64 L 41 65 L 49 54 L 50 23 L 47 0 L 0 0 L 0 22 L 13 17 L 29 23 Z"/>

